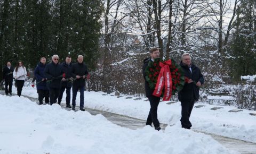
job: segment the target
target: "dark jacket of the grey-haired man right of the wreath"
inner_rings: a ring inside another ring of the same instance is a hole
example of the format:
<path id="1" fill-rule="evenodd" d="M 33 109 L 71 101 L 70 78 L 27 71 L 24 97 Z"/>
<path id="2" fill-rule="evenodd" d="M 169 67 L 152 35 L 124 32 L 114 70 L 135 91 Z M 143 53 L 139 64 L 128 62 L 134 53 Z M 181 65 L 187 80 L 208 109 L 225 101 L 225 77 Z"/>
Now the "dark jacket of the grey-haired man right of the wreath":
<path id="1" fill-rule="evenodd" d="M 184 65 L 182 62 L 180 63 L 180 66 L 184 71 L 184 75 L 187 76 L 189 79 L 192 79 L 195 83 L 192 82 L 184 84 L 183 89 L 178 93 L 179 100 L 190 100 L 193 99 L 193 97 L 195 100 L 198 100 L 199 87 L 197 87 L 196 83 L 200 81 L 201 84 L 204 84 L 203 74 L 201 73 L 200 69 L 194 64 L 191 64 L 192 73 L 190 72 L 189 67 L 187 65 Z"/>

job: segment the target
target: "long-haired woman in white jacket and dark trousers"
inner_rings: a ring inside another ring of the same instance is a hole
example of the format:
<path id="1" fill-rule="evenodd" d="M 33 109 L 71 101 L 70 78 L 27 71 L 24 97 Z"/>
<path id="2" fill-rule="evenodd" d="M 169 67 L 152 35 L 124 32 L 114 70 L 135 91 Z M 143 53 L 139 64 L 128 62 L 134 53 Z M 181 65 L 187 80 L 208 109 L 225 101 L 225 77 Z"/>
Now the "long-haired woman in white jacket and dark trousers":
<path id="1" fill-rule="evenodd" d="M 17 95 L 19 97 L 21 96 L 21 91 L 26 79 L 26 75 L 27 75 L 26 67 L 24 67 L 23 63 L 19 61 L 13 72 L 13 78 L 15 79 L 15 83 L 17 85 Z"/>

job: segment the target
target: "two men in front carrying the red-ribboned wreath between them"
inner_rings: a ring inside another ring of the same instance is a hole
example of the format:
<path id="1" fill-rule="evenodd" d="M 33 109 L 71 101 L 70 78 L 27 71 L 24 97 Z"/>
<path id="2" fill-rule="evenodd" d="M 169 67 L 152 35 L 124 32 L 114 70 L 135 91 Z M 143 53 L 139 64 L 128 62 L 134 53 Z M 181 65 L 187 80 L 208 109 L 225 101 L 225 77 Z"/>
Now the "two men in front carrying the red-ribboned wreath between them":
<path id="1" fill-rule="evenodd" d="M 146 58 L 143 62 L 142 73 L 145 79 L 145 91 L 146 96 L 150 102 L 150 110 L 147 118 L 146 125 L 154 127 L 156 130 L 161 130 L 158 118 L 157 118 L 157 107 L 159 105 L 160 97 L 156 97 L 153 95 L 154 89 L 150 89 L 149 83 L 146 80 L 146 67 L 148 66 L 149 61 L 153 61 L 156 58 L 159 58 L 159 49 L 151 48 L 149 50 L 150 57 Z M 185 129 L 190 129 L 192 126 L 189 121 L 189 117 L 191 115 L 192 109 L 194 107 L 195 101 L 199 98 L 199 87 L 204 84 L 204 77 L 200 71 L 200 69 L 191 63 L 191 56 L 189 53 L 184 53 L 181 55 L 180 66 L 184 72 L 184 75 L 189 79 L 187 83 L 185 83 L 183 89 L 178 93 L 178 99 L 181 102 L 181 127 Z"/>

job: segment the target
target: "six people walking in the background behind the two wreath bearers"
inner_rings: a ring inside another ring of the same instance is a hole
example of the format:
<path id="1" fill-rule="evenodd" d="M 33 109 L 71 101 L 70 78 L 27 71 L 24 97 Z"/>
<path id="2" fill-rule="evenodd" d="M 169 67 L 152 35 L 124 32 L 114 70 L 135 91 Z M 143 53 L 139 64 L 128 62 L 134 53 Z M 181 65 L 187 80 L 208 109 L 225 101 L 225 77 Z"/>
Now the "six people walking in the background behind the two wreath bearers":
<path id="1" fill-rule="evenodd" d="M 27 75 L 26 67 L 19 61 L 17 67 L 13 69 L 10 62 L 3 71 L 3 79 L 5 80 L 5 93 L 12 95 L 12 82 L 15 79 L 17 84 L 17 95 L 21 95 L 25 77 Z M 90 79 L 90 74 L 86 64 L 83 62 L 83 56 L 77 57 L 77 63 L 71 64 L 71 57 L 67 56 L 65 62 L 59 63 L 59 56 L 53 55 L 52 62 L 46 64 L 46 58 L 41 57 L 40 62 L 35 68 L 34 76 L 36 80 L 36 88 L 38 93 L 39 105 L 45 103 L 52 105 L 56 102 L 60 105 L 63 92 L 66 90 L 66 107 L 75 110 L 76 96 L 80 91 L 80 110 L 84 111 L 84 90 L 85 80 Z M 8 88 L 9 85 L 9 88 Z M 72 107 L 70 106 L 70 92 L 73 92 Z"/>

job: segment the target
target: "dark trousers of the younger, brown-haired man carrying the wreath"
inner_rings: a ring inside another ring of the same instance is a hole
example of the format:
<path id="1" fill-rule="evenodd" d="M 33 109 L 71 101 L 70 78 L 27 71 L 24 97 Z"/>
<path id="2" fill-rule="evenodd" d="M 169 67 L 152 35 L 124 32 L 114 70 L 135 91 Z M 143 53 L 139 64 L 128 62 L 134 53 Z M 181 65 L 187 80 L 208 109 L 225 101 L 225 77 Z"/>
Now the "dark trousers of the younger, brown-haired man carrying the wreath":
<path id="1" fill-rule="evenodd" d="M 149 96 L 148 99 L 150 102 L 150 110 L 146 125 L 151 125 L 153 122 L 155 129 L 157 129 L 160 126 L 159 121 L 157 119 L 157 107 L 159 105 L 160 97 Z"/>

